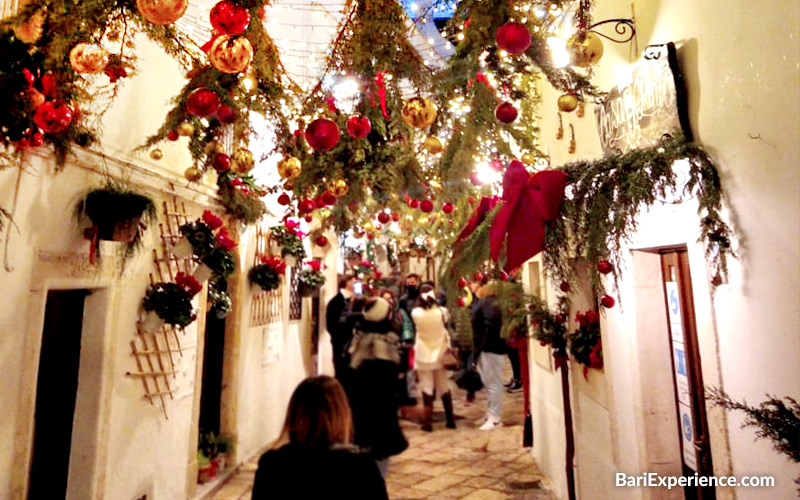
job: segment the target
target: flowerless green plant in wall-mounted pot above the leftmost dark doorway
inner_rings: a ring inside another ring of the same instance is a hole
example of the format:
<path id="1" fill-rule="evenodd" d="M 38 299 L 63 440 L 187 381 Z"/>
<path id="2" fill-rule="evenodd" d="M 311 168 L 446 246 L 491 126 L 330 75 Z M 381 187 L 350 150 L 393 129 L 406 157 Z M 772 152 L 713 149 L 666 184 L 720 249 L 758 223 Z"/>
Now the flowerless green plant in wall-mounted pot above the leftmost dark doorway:
<path id="1" fill-rule="evenodd" d="M 94 263 L 100 240 L 124 243 L 125 257 L 132 255 L 141 244 L 146 224 L 155 219 L 156 208 L 147 196 L 108 181 L 102 188 L 86 193 L 75 215 L 92 224 L 84 230 L 84 236 L 92 241 L 90 260 Z"/>

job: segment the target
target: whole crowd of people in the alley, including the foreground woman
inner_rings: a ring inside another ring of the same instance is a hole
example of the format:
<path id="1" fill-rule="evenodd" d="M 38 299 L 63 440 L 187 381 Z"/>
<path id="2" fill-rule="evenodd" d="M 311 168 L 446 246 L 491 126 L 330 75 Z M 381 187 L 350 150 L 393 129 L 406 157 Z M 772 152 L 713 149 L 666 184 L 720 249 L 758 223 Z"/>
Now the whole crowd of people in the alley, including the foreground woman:
<path id="1" fill-rule="evenodd" d="M 367 298 L 356 293 L 355 284 L 353 276 L 341 276 L 339 291 L 326 309 L 335 378 L 311 377 L 295 390 L 280 438 L 259 461 L 254 500 L 268 488 L 271 498 L 284 498 L 280 492 L 276 495 L 276 484 L 291 485 L 285 498 L 336 493 L 347 498 L 387 498 L 384 479 L 389 458 L 408 447 L 400 410 L 416 406 L 419 394 L 420 428 L 432 432 L 438 398 L 445 427 L 456 428 L 447 370 L 453 368 L 453 360 L 459 360 L 456 352 L 460 352 L 461 373 L 474 367 L 480 373 L 477 385 L 464 386 L 465 404 L 474 402 L 480 386 L 487 389 L 481 430 L 502 425 L 504 390 L 521 390 L 517 350 L 513 339 L 501 337 L 502 314 L 492 281 L 470 285 L 469 320 L 458 328 L 445 307 L 445 294 L 437 294 L 431 282 L 421 283 L 416 274 L 405 277 L 401 295 L 401 290 L 384 288 Z M 464 327 L 469 329 L 466 334 Z M 514 375 L 504 388 L 506 357 Z M 309 467 L 323 471 L 322 476 L 300 480 L 301 471 Z M 297 481 L 287 481 L 292 478 Z M 307 491 L 301 491 L 304 488 Z"/>

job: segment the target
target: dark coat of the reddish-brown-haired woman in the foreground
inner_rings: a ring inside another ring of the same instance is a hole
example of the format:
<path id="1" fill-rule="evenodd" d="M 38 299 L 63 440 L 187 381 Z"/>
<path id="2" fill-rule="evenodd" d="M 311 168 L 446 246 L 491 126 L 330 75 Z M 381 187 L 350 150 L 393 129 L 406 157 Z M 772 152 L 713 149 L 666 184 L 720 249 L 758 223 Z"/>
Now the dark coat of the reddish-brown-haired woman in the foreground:
<path id="1" fill-rule="evenodd" d="M 287 444 L 258 461 L 253 500 L 388 500 L 375 460 L 351 449 Z"/>

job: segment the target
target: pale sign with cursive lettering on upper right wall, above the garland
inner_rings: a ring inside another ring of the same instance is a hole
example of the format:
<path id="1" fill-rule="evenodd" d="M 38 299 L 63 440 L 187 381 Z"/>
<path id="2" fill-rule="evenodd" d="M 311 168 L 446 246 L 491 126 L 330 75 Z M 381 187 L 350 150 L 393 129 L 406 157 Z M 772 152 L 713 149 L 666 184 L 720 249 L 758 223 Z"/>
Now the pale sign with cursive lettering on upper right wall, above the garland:
<path id="1" fill-rule="evenodd" d="M 595 116 L 606 155 L 655 146 L 676 130 L 691 140 L 675 45 L 645 48 L 631 81 L 611 89 Z"/>

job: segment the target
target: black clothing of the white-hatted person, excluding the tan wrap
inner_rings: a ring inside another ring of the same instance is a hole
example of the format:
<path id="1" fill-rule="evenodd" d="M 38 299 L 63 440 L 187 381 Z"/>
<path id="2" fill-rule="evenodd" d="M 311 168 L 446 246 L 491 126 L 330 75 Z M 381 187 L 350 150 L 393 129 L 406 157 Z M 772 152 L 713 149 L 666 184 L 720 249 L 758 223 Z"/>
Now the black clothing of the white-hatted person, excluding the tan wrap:
<path id="1" fill-rule="evenodd" d="M 381 322 L 361 319 L 356 322 L 355 329 L 373 334 L 392 332 L 388 319 Z M 353 370 L 345 386 L 353 410 L 355 442 L 368 449 L 375 460 L 397 455 L 408 448 L 397 418 L 399 369 L 392 361 L 368 359 Z"/>

